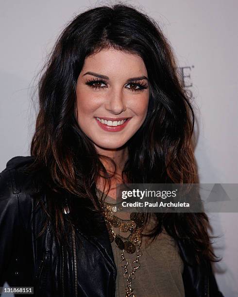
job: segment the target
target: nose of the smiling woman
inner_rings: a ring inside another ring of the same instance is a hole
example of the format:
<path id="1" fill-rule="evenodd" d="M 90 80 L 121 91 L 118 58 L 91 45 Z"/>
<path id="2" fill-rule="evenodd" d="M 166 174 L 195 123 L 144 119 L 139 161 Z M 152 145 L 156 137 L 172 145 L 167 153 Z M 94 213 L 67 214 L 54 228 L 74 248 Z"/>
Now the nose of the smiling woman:
<path id="1" fill-rule="evenodd" d="M 105 109 L 115 115 L 119 115 L 126 110 L 125 98 L 121 90 L 116 91 L 114 89 L 108 94 Z"/>

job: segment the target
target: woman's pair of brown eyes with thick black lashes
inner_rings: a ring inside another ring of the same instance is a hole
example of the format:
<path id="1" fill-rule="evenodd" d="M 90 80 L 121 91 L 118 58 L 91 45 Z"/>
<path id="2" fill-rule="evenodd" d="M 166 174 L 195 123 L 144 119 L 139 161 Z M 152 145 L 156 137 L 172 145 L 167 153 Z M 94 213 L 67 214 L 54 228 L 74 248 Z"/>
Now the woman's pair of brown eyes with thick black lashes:
<path id="1" fill-rule="evenodd" d="M 103 79 L 89 79 L 85 82 L 89 87 L 93 88 L 93 89 L 104 89 L 107 88 L 107 82 L 104 81 Z M 105 84 L 105 86 L 100 86 L 100 84 Z M 148 85 L 146 82 L 144 81 L 131 81 L 131 82 L 127 82 L 126 84 L 127 86 L 133 86 L 131 87 L 126 87 L 126 89 L 132 91 L 132 92 L 141 92 L 144 91 L 144 89 L 148 88 Z"/>

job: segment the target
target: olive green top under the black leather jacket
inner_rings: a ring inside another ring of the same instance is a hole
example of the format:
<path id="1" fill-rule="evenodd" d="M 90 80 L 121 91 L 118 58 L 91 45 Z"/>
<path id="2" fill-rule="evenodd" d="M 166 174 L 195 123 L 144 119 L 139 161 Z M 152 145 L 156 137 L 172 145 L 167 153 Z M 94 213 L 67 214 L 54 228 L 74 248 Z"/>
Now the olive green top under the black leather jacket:
<path id="1" fill-rule="evenodd" d="M 99 190 L 98 190 L 99 191 Z M 102 194 L 101 191 L 99 191 Z M 115 199 L 106 196 L 106 202 L 116 203 Z M 115 213 L 120 218 L 130 218 L 129 212 Z M 154 223 L 153 217 L 147 224 L 143 233 L 151 230 L 150 226 Z M 127 237 L 128 232 L 122 232 L 119 228 L 113 227 L 116 234 Z M 132 281 L 133 293 L 136 297 L 185 297 L 182 273 L 184 269 L 183 261 L 179 255 L 176 242 L 162 231 L 154 241 L 147 241 L 142 237 L 141 252 L 139 257 L 140 267 L 136 269 L 136 278 Z M 117 266 L 116 297 L 125 297 L 125 288 L 127 281 L 123 276 L 124 267 L 121 267 L 122 250 L 116 245 L 115 241 L 111 243 L 114 254 L 114 260 Z M 138 247 L 136 247 L 137 250 Z M 132 272 L 132 262 L 136 260 L 136 252 L 129 254 L 124 251 L 124 257 L 128 260 L 128 272 Z M 123 264 L 126 262 L 124 261 Z M 134 264 L 135 266 L 135 264 Z M 128 276 L 128 274 L 127 274 Z"/>

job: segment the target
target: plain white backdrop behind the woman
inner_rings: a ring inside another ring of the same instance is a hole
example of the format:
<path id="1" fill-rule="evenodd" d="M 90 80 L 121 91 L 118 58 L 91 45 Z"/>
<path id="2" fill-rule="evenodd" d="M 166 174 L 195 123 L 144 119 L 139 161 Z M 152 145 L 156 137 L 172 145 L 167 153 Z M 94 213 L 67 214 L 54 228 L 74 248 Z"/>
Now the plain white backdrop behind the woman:
<path id="1" fill-rule="evenodd" d="M 0 12 L 0 171 L 29 155 L 34 78 L 75 14 L 109 3 L 87 0 L 2 1 Z M 110 2 L 112 3 L 112 2 Z M 238 183 L 238 1 L 124 1 L 155 18 L 169 38 L 197 107 L 196 159 L 202 183 Z M 209 214 L 214 265 L 225 297 L 238 296 L 238 214 Z M 9 296 L 9 295 L 8 295 Z"/>

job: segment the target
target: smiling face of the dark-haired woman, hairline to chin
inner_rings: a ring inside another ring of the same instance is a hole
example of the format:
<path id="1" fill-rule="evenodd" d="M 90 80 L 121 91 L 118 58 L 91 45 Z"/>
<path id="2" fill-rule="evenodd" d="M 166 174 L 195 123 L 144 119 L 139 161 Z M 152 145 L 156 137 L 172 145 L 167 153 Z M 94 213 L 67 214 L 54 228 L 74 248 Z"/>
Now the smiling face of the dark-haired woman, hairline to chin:
<path id="1" fill-rule="evenodd" d="M 149 82 L 143 60 L 116 49 L 87 57 L 76 95 L 78 124 L 96 148 L 121 148 L 147 115 Z"/>

